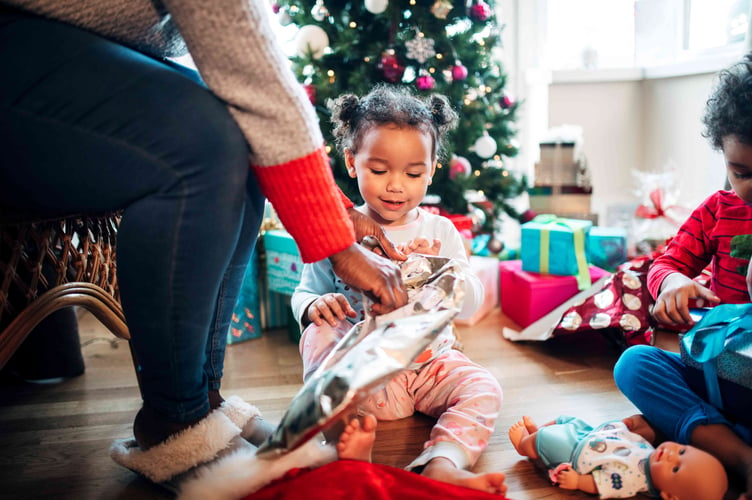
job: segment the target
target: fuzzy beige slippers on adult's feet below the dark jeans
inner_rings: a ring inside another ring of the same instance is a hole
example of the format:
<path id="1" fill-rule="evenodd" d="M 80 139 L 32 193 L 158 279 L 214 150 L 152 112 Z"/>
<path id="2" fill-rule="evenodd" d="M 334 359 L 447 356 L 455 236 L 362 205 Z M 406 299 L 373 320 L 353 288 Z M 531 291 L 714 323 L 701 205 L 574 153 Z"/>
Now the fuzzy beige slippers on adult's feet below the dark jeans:
<path id="1" fill-rule="evenodd" d="M 110 456 L 123 467 L 174 491 L 182 477 L 192 475 L 200 466 L 237 449 L 250 448 L 242 439 L 242 429 L 258 415 L 255 407 L 231 397 L 203 420 L 148 450 L 142 450 L 135 439 L 116 440 Z"/>

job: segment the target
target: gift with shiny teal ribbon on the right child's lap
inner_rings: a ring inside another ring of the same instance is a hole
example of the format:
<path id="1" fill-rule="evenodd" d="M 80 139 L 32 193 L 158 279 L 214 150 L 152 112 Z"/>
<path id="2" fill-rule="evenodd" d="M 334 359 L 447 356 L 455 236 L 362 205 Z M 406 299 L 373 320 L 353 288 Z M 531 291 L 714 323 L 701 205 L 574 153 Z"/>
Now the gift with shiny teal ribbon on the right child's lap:
<path id="1" fill-rule="evenodd" d="M 752 389 L 752 304 L 721 304 L 705 313 L 679 343 L 687 366 L 705 375 L 708 399 L 723 408 L 718 378 Z"/>

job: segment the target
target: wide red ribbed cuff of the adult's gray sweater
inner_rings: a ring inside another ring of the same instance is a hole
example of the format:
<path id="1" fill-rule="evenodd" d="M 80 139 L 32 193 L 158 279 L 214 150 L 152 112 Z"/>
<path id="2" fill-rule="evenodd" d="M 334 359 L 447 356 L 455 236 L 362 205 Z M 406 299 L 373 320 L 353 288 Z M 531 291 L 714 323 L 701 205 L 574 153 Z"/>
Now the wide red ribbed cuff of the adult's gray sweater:
<path id="1" fill-rule="evenodd" d="M 346 198 L 334 182 L 323 146 L 280 165 L 252 165 L 252 170 L 298 244 L 303 262 L 325 259 L 355 242 L 355 231 L 343 206 Z"/>

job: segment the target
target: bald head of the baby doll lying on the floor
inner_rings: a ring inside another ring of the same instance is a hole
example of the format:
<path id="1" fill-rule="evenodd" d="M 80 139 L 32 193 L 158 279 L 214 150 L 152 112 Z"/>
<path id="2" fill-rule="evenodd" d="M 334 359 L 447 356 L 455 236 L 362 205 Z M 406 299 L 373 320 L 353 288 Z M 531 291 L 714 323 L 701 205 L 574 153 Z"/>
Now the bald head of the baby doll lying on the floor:
<path id="1" fill-rule="evenodd" d="M 650 455 L 650 478 L 664 500 L 722 500 L 723 465 L 707 452 L 667 441 Z"/>

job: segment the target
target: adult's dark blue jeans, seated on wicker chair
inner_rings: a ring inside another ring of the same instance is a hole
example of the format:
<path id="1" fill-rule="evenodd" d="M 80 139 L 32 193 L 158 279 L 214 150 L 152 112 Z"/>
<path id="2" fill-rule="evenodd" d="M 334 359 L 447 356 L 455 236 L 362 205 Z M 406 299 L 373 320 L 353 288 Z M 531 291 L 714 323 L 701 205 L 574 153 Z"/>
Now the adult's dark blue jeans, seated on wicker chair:
<path id="1" fill-rule="evenodd" d="M 263 214 L 248 145 L 195 72 L 0 11 L 0 206 L 123 209 L 117 266 L 144 402 L 209 410 Z"/>

